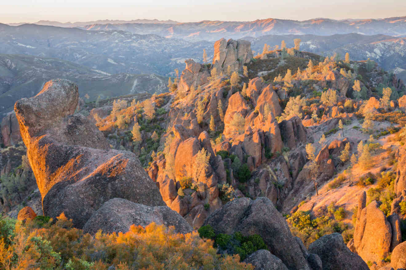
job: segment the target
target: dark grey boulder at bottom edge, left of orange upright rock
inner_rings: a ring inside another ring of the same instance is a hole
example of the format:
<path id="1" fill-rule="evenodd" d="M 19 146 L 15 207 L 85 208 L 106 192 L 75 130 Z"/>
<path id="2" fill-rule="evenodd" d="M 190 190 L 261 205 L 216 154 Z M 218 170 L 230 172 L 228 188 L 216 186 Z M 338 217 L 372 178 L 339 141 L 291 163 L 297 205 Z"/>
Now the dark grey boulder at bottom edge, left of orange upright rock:
<path id="1" fill-rule="evenodd" d="M 341 234 L 328 234 L 315 240 L 309 252 L 322 259 L 323 270 L 368 270 L 360 256 L 352 253 L 344 244 Z"/>

